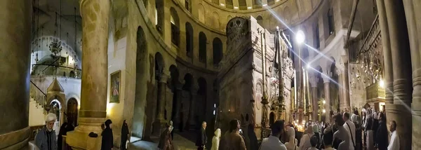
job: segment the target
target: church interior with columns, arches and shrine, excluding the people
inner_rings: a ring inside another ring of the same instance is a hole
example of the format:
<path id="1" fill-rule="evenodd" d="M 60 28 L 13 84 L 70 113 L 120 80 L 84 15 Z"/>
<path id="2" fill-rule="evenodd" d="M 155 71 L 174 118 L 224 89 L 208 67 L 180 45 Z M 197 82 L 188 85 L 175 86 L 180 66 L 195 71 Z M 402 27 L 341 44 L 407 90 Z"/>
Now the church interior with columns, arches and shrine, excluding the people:
<path id="1" fill-rule="evenodd" d="M 208 149 L 236 118 L 254 150 L 277 120 L 367 108 L 421 149 L 420 43 L 417 0 L 1 0 L 0 149 L 33 149 L 47 114 L 72 149 L 100 149 L 107 119 L 113 149 L 124 121 L 128 149 L 170 121 L 196 149 L 206 121 Z"/>

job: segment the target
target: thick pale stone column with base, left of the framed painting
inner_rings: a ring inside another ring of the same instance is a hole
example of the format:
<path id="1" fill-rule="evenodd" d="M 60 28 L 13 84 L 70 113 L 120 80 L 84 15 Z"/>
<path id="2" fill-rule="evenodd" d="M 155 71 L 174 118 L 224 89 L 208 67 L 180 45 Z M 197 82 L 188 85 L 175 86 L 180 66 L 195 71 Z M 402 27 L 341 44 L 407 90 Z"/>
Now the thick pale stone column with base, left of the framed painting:
<path id="1" fill-rule="evenodd" d="M 100 149 L 101 124 L 107 117 L 109 1 L 81 0 L 82 83 L 79 126 L 67 132 L 67 143 L 75 149 Z"/>

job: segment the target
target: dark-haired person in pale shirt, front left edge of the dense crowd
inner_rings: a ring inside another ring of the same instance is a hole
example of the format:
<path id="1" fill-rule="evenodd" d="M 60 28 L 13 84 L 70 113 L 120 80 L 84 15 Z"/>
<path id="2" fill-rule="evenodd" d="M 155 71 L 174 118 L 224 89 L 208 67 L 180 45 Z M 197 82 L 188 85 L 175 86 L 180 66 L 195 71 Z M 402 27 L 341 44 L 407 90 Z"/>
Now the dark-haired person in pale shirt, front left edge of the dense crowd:
<path id="1" fill-rule="evenodd" d="M 286 150 L 286 146 L 279 140 L 283 132 L 283 121 L 276 121 L 271 128 L 272 134 L 263 139 L 259 150 Z"/>

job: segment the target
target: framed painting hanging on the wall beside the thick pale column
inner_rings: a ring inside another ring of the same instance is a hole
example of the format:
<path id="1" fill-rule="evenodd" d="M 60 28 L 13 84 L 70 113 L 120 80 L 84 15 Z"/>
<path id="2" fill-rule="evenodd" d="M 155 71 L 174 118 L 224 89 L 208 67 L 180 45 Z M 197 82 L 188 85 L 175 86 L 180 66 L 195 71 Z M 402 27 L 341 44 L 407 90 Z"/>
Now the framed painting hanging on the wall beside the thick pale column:
<path id="1" fill-rule="evenodd" d="M 120 102 L 120 83 L 121 83 L 121 71 L 115 71 L 110 75 L 111 86 L 109 92 L 109 103 Z"/>

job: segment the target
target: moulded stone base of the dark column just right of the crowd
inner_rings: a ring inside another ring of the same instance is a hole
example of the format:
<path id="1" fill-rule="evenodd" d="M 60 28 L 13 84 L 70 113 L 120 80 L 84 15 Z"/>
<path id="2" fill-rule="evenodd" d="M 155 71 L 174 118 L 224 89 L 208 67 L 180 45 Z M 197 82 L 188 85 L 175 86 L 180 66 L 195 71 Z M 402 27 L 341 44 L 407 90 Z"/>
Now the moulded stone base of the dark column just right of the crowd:
<path id="1" fill-rule="evenodd" d="M 386 118 L 387 121 L 396 121 L 396 131 L 401 137 L 409 137 L 412 135 L 412 119 L 410 106 L 404 106 L 402 104 L 386 104 Z M 411 149 L 411 139 L 401 138 L 401 149 Z"/>

